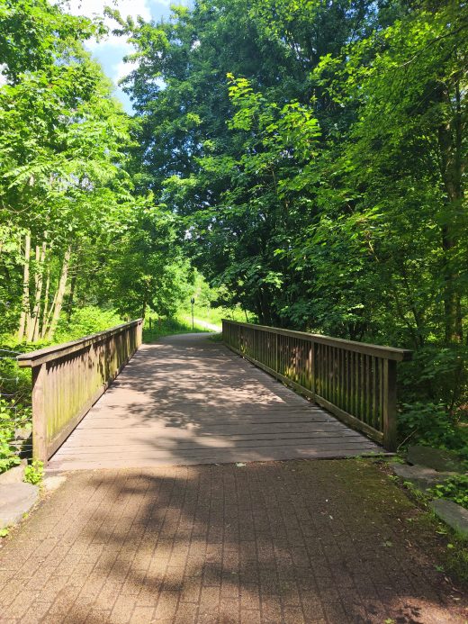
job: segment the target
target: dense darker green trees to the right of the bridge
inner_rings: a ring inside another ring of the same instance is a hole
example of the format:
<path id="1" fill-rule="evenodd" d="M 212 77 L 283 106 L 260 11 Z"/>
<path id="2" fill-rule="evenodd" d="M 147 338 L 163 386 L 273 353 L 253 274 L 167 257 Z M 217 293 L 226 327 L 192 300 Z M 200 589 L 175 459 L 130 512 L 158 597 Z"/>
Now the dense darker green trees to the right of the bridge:
<path id="1" fill-rule="evenodd" d="M 461 452 L 466 18 L 458 0 L 209 0 L 120 20 L 137 188 L 184 217 L 210 286 L 262 323 L 412 348 L 401 439 Z"/>

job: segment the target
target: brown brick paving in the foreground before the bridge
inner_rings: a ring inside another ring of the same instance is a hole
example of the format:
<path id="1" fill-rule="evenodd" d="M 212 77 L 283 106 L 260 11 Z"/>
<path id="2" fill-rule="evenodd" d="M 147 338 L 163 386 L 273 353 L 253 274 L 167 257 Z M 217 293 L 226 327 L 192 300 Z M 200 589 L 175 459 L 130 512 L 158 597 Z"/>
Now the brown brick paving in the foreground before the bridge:
<path id="1" fill-rule="evenodd" d="M 3 541 L 0 621 L 464 622 L 419 514 L 355 459 L 68 473 Z"/>

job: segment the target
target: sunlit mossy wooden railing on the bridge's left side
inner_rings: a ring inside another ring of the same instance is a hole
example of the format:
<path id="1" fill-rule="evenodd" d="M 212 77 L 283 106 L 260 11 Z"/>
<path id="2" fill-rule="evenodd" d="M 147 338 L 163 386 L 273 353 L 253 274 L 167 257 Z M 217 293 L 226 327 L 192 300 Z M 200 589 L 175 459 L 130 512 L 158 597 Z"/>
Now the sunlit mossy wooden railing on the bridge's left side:
<path id="1" fill-rule="evenodd" d="M 143 321 L 24 353 L 32 369 L 32 455 L 46 462 L 141 344 Z"/>

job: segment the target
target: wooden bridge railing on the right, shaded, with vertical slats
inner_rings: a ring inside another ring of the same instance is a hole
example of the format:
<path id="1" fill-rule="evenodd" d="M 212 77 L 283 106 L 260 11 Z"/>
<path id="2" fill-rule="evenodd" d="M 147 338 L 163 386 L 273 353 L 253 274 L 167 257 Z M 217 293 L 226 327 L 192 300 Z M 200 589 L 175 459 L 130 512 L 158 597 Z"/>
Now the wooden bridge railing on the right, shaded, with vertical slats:
<path id="1" fill-rule="evenodd" d="M 394 450 L 397 362 L 411 351 L 222 321 L 225 344 L 356 430 Z"/>

